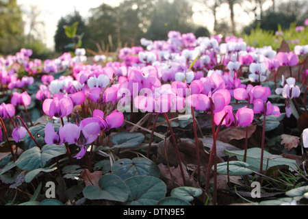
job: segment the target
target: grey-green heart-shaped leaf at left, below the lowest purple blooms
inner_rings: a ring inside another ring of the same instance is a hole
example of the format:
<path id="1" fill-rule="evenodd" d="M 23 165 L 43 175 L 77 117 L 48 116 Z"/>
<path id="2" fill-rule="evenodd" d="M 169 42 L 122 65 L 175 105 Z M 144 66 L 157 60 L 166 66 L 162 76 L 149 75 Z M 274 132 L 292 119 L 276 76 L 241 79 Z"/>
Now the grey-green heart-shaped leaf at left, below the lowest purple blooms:
<path id="1" fill-rule="evenodd" d="M 50 159 L 66 153 L 66 147 L 64 144 L 46 144 L 42 147 L 42 150 L 38 146 L 25 151 L 16 160 L 15 164 L 22 170 L 35 170 L 37 168 L 43 168 Z"/>

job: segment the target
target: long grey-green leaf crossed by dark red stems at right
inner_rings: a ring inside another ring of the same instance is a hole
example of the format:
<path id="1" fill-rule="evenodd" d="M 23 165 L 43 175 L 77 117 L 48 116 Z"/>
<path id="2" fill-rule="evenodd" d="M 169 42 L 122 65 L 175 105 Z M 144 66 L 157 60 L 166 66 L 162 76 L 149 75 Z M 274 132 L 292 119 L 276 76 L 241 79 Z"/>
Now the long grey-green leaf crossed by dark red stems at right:
<path id="1" fill-rule="evenodd" d="M 227 155 L 230 157 L 236 156 L 238 160 L 243 160 L 244 158 L 244 150 L 242 151 L 227 151 Z M 259 171 L 260 168 L 260 157 L 261 157 L 261 149 L 259 148 L 251 148 L 247 150 L 246 163 L 249 164 L 249 168 L 254 171 Z M 292 168 L 296 167 L 296 161 L 294 159 L 287 159 L 285 157 L 281 157 L 280 155 L 272 155 L 267 151 L 264 151 L 264 159 L 263 159 L 263 169 L 270 168 L 272 166 L 279 165 L 287 165 Z"/>

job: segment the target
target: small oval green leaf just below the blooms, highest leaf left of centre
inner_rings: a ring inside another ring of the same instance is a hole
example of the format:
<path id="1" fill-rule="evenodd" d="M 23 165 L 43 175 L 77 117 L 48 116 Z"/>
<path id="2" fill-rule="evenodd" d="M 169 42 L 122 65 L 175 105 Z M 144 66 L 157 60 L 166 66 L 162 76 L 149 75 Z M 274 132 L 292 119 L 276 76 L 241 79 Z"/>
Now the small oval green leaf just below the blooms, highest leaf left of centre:
<path id="1" fill-rule="evenodd" d="M 114 143 L 114 148 L 127 149 L 134 146 L 138 146 L 144 140 L 144 135 L 138 132 L 123 131 L 115 134 L 110 138 L 110 141 Z"/>

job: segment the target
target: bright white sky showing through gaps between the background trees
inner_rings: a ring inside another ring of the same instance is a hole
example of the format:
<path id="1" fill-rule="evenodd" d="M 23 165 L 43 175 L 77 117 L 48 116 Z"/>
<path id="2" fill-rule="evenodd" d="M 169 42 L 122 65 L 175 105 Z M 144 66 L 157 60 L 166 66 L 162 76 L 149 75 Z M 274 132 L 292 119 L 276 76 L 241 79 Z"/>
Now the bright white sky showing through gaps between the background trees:
<path id="1" fill-rule="evenodd" d="M 66 16 L 74 10 L 77 10 L 83 18 L 88 16 L 88 11 L 90 8 L 96 8 L 101 3 L 107 3 L 112 6 L 116 6 L 120 3 L 121 0 L 53 0 L 53 1 L 42 1 L 42 0 L 17 0 L 18 5 L 21 5 L 21 9 L 24 14 L 29 13 L 31 10 L 31 5 L 36 7 L 36 10 L 40 12 L 38 17 L 39 21 L 44 23 L 42 27 L 42 39 L 49 49 L 54 49 L 53 36 L 57 29 L 57 22 L 62 16 Z M 235 6 L 240 7 L 240 6 Z M 198 25 L 207 27 L 210 31 L 214 20 L 210 14 L 204 13 L 203 5 L 193 5 L 194 10 L 194 22 Z M 198 12 L 198 11 L 203 11 Z M 220 11 L 218 12 L 218 19 L 225 17 L 226 13 L 229 16 L 228 5 L 222 5 Z M 235 21 L 240 25 L 241 23 L 247 25 L 249 22 L 253 21 L 251 15 L 243 13 L 241 8 L 235 8 Z M 24 20 L 26 23 L 25 31 L 27 31 L 27 15 L 24 15 Z"/>

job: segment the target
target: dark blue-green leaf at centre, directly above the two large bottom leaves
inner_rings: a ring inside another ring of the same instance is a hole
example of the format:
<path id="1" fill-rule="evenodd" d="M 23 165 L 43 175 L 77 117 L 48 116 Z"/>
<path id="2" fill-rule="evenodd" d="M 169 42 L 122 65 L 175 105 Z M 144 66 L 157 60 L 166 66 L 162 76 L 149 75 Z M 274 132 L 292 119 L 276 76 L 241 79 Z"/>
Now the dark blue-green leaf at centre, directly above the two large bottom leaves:
<path id="1" fill-rule="evenodd" d="M 118 159 L 112 165 L 112 172 L 122 180 L 138 175 L 148 175 L 157 178 L 160 176 L 158 166 L 151 159 L 144 157 Z"/>

